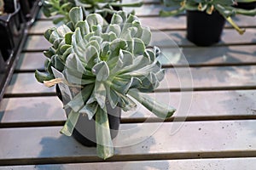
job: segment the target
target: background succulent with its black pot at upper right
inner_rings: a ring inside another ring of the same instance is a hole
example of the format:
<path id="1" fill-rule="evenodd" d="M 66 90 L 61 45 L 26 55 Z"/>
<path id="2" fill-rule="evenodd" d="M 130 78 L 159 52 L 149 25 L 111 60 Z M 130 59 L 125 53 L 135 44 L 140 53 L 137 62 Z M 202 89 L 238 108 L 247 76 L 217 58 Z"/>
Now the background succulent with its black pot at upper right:
<path id="1" fill-rule="evenodd" d="M 255 0 L 236 0 L 239 3 L 250 3 Z M 177 6 L 172 11 L 160 11 L 161 16 L 181 14 L 186 10 L 187 14 L 187 38 L 198 46 L 209 46 L 219 42 L 224 28 L 225 20 L 240 34 L 244 29 L 239 28 L 231 19 L 236 14 L 255 16 L 256 10 L 235 8 L 233 0 L 164 0 L 166 6 Z"/>

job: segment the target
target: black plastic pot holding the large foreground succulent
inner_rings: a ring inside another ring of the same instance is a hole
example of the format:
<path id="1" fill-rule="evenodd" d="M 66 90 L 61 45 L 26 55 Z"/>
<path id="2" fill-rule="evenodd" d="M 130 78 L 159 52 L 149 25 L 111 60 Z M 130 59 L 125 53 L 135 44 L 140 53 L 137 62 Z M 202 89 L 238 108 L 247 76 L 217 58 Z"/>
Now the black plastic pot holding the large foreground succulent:
<path id="1" fill-rule="evenodd" d="M 56 86 L 56 94 L 59 99 L 63 102 L 61 90 L 58 86 Z M 65 105 L 66 102 L 64 101 Z M 66 109 L 66 114 L 70 112 L 70 109 Z M 112 109 L 110 105 L 107 104 L 108 111 L 108 122 L 110 128 L 111 138 L 114 139 L 119 130 L 120 117 L 121 117 L 121 109 L 116 107 Z M 95 117 L 93 120 L 89 120 L 87 116 L 79 116 L 79 120 L 73 130 L 73 138 L 79 141 L 80 144 L 85 146 L 96 146 L 96 126 L 95 126 Z"/>

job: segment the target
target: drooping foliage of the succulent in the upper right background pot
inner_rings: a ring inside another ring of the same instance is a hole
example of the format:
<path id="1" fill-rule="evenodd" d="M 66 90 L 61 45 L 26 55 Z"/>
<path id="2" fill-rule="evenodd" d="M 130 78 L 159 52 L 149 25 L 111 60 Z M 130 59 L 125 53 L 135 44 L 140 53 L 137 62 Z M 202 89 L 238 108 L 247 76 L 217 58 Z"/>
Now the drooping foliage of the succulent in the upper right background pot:
<path id="1" fill-rule="evenodd" d="M 207 14 L 212 14 L 214 10 L 217 10 L 231 26 L 240 34 L 244 33 L 244 29 L 241 29 L 236 25 L 231 17 L 236 14 L 244 14 L 249 16 L 255 16 L 256 9 L 246 10 L 242 8 L 235 8 L 236 3 L 252 3 L 255 0 L 163 0 L 166 6 L 176 6 L 177 8 L 171 11 L 160 11 L 160 16 L 172 16 L 181 14 L 184 10 L 199 10 L 206 11 Z"/>

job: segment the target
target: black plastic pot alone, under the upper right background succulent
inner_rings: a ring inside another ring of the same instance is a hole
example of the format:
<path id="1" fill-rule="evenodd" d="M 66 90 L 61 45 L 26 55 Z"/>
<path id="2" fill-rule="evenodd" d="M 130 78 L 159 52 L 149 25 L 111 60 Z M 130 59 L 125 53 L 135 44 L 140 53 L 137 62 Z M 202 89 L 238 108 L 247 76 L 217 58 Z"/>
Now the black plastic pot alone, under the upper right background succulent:
<path id="1" fill-rule="evenodd" d="M 186 11 L 187 38 L 197 46 L 210 46 L 221 39 L 225 19 L 217 11 L 207 14 L 201 11 Z"/>

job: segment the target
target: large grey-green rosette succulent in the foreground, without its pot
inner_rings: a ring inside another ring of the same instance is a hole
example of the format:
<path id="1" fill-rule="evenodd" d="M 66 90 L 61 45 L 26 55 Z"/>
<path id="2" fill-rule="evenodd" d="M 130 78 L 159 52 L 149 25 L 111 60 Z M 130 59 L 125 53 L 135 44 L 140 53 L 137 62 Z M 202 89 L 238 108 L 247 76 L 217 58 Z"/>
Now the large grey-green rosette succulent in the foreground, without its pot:
<path id="1" fill-rule="evenodd" d="M 108 24 L 100 14 L 89 14 L 83 20 L 82 9 L 76 7 L 69 17 L 71 22 L 66 25 L 45 31 L 44 37 L 53 46 L 44 52 L 46 72 L 36 71 L 35 77 L 49 87 L 62 83 L 80 88 L 64 106 L 72 111 L 61 133 L 73 133 L 79 114 L 89 119 L 95 116 L 97 155 L 106 159 L 113 156 L 106 102 L 129 111 L 137 106 L 136 99 L 163 119 L 175 111 L 143 94 L 152 92 L 164 78 L 160 49 L 147 48 L 151 32 L 133 14 L 119 11 Z M 63 77 L 55 77 L 54 70 Z"/>

